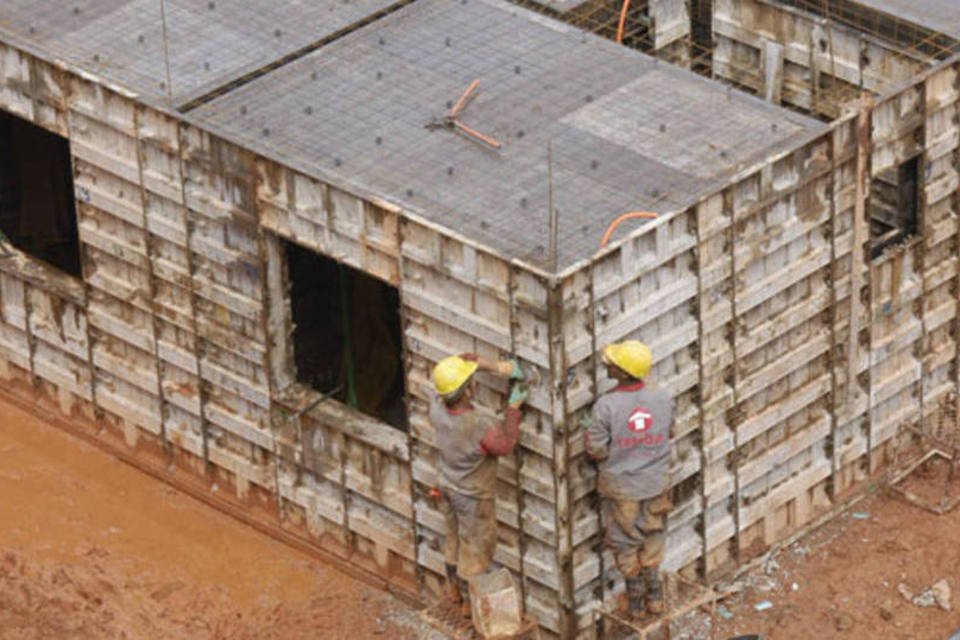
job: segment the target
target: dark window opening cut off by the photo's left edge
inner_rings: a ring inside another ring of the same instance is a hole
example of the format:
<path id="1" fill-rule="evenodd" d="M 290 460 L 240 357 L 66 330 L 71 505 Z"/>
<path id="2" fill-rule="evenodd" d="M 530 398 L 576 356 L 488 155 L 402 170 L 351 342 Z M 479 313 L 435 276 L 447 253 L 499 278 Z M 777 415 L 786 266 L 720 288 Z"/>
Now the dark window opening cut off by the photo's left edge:
<path id="1" fill-rule="evenodd" d="M 80 277 L 70 145 L 4 111 L 0 111 L 0 231 L 24 253 Z"/>

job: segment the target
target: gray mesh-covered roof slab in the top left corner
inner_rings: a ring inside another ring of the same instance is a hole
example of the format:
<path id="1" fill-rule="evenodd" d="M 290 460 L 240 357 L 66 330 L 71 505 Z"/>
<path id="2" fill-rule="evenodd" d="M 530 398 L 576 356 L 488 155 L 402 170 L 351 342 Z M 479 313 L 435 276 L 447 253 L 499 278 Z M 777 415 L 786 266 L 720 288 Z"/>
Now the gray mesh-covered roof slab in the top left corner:
<path id="1" fill-rule="evenodd" d="M 179 107 L 396 0 L 2 0 L 0 37 Z M 166 46 L 164 43 L 166 36 Z"/>

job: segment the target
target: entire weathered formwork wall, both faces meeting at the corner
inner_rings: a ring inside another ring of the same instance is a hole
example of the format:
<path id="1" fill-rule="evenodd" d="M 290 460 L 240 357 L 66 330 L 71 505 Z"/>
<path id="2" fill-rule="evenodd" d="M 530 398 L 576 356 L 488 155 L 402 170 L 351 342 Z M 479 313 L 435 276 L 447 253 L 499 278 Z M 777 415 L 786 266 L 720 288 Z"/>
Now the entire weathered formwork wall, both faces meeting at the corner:
<path id="1" fill-rule="evenodd" d="M 84 277 L 0 261 L 0 375 L 171 482 L 430 599 L 430 369 L 517 353 L 543 382 L 500 465 L 496 559 L 545 629 L 589 636 L 621 588 L 580 426 L 609 385 L 597 347 L 639 336 L 657 354 L 678 408 L 667 566 L 707 581 L 862 486 L 898 426 L 957 391 L 958 67 L 553 276 L 2 45 L 0 108 L 70 140 Z M 920 229 L 871 260 L 869 176 L 918 154 Z M 294 382 L 281 240 L 400 290 L 408 432 L 332 401 L 296 418 L 319 395 Z M 499 407 L 505 386 L 482 383 Z"/>

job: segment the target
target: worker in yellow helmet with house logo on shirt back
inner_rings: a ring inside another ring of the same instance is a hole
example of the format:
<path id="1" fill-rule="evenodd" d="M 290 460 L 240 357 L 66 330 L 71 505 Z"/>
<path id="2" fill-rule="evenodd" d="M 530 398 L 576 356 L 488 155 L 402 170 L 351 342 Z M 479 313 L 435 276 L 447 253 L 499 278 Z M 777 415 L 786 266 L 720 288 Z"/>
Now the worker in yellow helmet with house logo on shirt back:
<path id="1" fill-rule="evenodd" d="M 598 462 L 605 542 L 627 584 L 630 614 L 663 612 L 660 563 L 667 497 L 673 400 L 652 387 L 650 349 L 637 340 L 603 349 L 607 376 L 617 386 L 593 406 L 586 451 Z"/>

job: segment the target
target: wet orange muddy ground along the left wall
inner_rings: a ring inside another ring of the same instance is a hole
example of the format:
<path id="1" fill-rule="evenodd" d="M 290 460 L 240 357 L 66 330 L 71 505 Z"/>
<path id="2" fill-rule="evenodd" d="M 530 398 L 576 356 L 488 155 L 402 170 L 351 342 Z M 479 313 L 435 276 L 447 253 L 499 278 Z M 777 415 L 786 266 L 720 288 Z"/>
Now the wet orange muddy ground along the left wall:
<path id="1" fill-rule="evenodd" d="M 0 638 L 416 638 L 391 596 L 0 401 Z"/>

